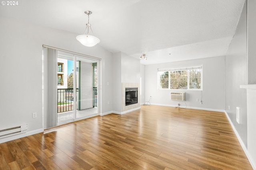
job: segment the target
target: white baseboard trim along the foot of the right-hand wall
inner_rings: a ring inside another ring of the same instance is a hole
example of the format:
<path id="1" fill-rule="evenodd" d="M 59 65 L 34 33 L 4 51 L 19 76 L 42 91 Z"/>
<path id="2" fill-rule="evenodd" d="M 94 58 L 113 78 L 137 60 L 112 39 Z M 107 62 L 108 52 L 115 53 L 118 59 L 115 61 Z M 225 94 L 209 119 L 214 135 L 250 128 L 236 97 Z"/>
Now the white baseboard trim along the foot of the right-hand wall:
<path id="1" fill-rule="evenodd" d="M 226 114 L 226 117 L 228 118 L 228 121 L 229 121 L 229 123 L 230 123 L 230 125 L 231 125 L 231 127 L 232 127 L 232 129 L 233 129 L 233 131 L 234 131 L 234 133 L 236 134 L 236 137 L 237 137 L 237 139 L 238 139 L 238 141 L 239 141 L 239 143 L 240 143 L 242 149 L 244 150 L 244 153 L 246 154 L 246 156 L 247 156 L 247 158 L 248 158 L 248 160 L 249 160 L 249 162 L 250 162 L 252 168 L 253 168 L 254 170 L 256 170 L 256 162 L 254 162 L 255 160 L 252 159 L 252 156 L 251 156 L 250 153 L 248 152 L 246 146 L 244 145 L 244 142 L 242 141 L 240 135 L 239 135 L 238 132 L 236 131 L 235 126 L 233 125 L 231 119 L 229 118 L 228 113 L 227 113 L 226 111 L 224 111 L 224 113 Z"/>

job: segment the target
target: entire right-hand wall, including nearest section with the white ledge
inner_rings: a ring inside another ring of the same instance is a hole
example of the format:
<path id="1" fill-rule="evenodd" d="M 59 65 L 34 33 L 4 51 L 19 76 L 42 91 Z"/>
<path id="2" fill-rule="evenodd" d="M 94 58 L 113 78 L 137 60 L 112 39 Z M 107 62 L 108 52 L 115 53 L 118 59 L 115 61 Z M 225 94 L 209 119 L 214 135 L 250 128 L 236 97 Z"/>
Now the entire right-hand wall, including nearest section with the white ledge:
<path id="1" fill-rule="evenodd" d="M 256 2 L 245 1 L 236 33 L 226 55 L 226 109 L 232 127 L 243 149 L 256 169 L 255 85 L 252 89 L 240 85 L 256 84 Z M 230 109 L 228 109 L 230 106 Z M 240 107 L 240 124 L 236 122 L 236 107 Z"/>

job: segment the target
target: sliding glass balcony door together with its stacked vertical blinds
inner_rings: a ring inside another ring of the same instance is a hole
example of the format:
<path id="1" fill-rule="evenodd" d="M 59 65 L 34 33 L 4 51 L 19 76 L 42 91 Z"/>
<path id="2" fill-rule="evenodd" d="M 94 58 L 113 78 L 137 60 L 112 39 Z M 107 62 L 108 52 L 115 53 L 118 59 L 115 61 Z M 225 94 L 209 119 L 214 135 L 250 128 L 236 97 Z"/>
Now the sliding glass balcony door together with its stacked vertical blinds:
<path id="1" fill-rule="evenodd" d="M 99 59 L 43 48 L 44 128 L 99 114 Z"/>

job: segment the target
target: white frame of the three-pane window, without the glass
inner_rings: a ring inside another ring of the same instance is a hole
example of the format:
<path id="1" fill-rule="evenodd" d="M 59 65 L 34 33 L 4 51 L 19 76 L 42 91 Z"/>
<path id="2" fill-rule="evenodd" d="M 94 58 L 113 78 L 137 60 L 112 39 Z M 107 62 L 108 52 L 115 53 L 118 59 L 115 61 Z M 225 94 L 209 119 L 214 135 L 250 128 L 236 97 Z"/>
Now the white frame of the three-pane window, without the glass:
<path id="1" fill-rule="evenodd" d="M 200 69 L 200 76 L 201 76 L 201 82 L 200 82 L 200 89 L 198 88 L 190 88 L 190 70 L 196 70 Z M 172 71 L 183 71 L 187 70 L 187 89 L 171 89 L 170 87 L 170 72 Z M 160 72 L 167 72 L 168 71 L 168 88 L 160 88 Z M 195 90 L 195 91 L 202 91 L 203 90 L 203 65 L 198 64 L 198 65 L 193 65 L 193 66 L 179 66 L 179 67 L 170 67 L 170 68 L 158 68 L 157 70 L 157 81 L 158 81 L 158 90 Z"/>

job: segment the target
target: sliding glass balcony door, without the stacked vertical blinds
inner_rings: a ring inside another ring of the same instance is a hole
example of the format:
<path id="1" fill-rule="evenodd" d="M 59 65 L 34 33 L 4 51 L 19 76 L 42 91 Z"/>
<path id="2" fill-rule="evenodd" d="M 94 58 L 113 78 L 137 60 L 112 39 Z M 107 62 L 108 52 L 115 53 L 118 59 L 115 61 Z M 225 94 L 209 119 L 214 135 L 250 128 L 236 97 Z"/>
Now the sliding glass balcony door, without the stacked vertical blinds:
<path id="1" fill-rule="evenodd" d="M 58 51 L 58 125 L 98 114 L 97 63 L 90 57 Z"/>

